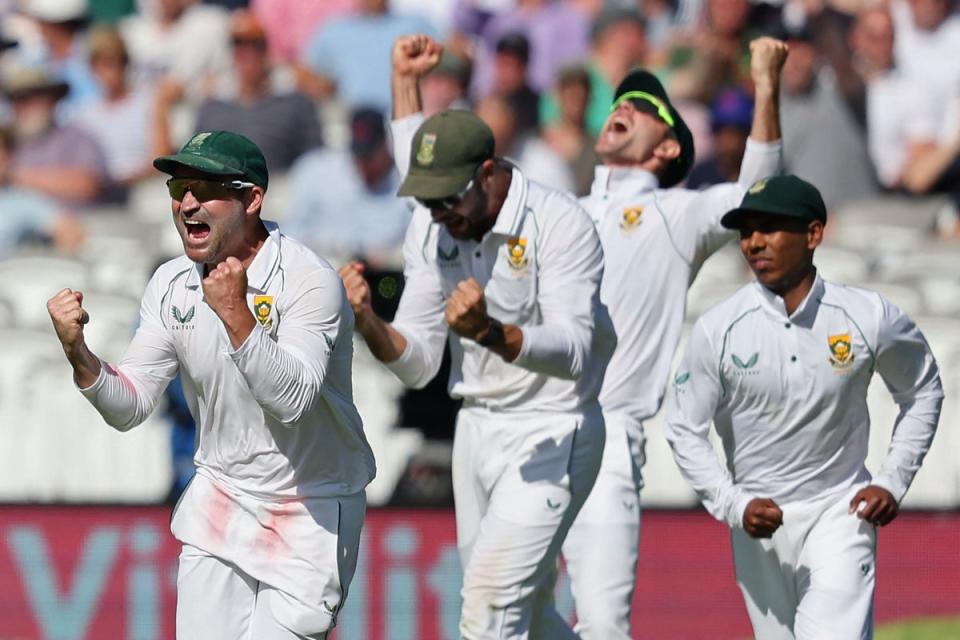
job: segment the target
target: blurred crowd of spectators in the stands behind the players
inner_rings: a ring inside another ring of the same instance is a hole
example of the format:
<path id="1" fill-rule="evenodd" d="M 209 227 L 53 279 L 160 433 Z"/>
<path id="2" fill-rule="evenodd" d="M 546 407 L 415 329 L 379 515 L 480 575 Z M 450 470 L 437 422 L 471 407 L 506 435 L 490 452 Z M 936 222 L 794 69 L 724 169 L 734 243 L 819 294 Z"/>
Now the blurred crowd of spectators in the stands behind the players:
<path id="1" fill-rule="evenodd" d="M 85 215 L 156 179 L 153 157 L 230 129 L 289 175 L 290 233 L 321 253 L 389 254 L 408 216 L 384 126 L 390 48 L 415 32 L 446 45 L 428 115 L 475 109 L 499 154 L 577 194 L 636 66 L 694 130 L 688 185 L 735 179 L 760 34 L 791 48 L 787 169 L 829 206 L 960 192 L 950 0 L 0 0 L 0 27 L 2 252 L 76 250 Z"/>

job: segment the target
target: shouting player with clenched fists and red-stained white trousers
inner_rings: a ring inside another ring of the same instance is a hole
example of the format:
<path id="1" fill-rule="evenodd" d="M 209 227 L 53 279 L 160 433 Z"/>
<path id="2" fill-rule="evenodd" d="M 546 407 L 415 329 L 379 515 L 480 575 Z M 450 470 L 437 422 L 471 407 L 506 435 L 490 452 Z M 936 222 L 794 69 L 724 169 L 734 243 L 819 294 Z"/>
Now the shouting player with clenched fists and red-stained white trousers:
<path id="1" fill-rule="evenodd" d="M 353 313 L 336 271 L 261 220 L 268 175 L 250 140 L 199 133 L 154 166 L 172 176 L 186 255 L 147 284 L 123 359 L 86 346 L 79 291 L 50 299 L 54 328 L 81 393 L 120 431 L 181 375 L 198 430 L 171 523 L 177 637 L 325 638 L 375 471 L 352 397 Z"/>

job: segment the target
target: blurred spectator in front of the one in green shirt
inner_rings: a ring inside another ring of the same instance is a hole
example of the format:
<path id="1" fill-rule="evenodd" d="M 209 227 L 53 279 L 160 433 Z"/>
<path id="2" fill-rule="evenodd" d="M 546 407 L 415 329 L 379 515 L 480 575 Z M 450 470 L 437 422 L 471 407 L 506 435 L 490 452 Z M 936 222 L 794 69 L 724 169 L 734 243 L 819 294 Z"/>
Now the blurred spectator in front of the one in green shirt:
<path id="1" fill-rule="evenodd" d="M 583 67 L 568 67 L 557 78 L 556 97 L 560 118 L 543 131 L 543 139 L 567 162 L 573 173 L 574 193 L 590 193 L 594 167 L 598 159 L 593 151 L 596 141 L 587 131 L 587 105 L 590 103 L 590 74 Z"/>

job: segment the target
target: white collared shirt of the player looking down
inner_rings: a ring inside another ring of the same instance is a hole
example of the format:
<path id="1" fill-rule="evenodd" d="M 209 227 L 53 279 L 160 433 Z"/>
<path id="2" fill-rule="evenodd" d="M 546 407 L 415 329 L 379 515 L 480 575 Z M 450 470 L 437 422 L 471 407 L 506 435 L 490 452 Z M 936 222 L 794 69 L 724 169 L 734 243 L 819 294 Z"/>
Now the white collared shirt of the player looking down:
<path id="1" fill-rule="evenodd" d="M 401 381 L 429 382 L 449 338 L 450 394 L 467 406 L 578 412 L 596 403 L 614 337 L 600 305 L 603 251 L 572 197 L 514 168 L 497 221 L 480 242 L 456 240 L 418 206 L 403 253 L 405 285 L 393 327 L 407 347 L 387 363 Z M 484 288 L 490 316 L 522 329 L 514 362 L 449 331 L 446 300 L 470 277 Z"/>

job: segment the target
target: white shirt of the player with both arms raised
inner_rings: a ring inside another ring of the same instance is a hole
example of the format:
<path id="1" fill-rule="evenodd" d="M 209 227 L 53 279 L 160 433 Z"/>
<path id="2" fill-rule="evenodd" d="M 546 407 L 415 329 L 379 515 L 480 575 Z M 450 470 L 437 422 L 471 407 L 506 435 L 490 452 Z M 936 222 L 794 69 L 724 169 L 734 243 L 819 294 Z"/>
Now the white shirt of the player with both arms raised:
<path id="1" fill-rule="evenodd" d="M 780 142 L 747 141 L 740 180 L 704 191 L 660 189 L 643 169 L 596 168 L 581 204 L 603 244 L 600 298 L 610 311 L 617 348 L 600 404 L 635 421 L 660 409 L 680 340 L 687 289 L 704 260 L 735 237 L 720 218 L 750 186 L 780 173 Z"/>

